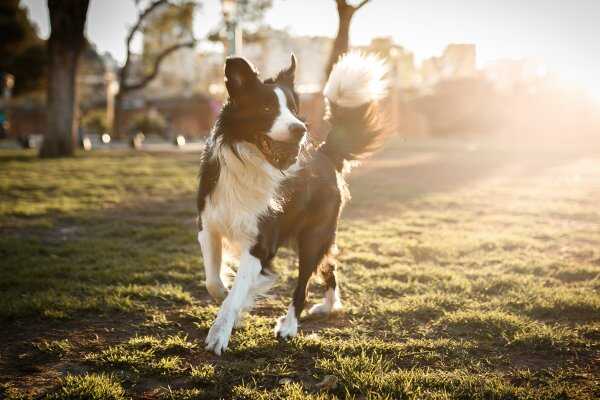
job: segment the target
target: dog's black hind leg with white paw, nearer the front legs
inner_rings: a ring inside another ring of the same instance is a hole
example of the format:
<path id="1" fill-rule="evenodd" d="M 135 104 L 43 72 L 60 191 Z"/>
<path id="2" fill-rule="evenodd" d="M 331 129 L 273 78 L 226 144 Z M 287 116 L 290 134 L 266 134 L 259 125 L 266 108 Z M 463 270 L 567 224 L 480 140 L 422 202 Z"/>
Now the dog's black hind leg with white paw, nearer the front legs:
<path id="1" fill-rule="evenodd" d="M 294 291 L 294 298 L 288 312 L 277 321 L 275 335 L 286 338 L 296 336 L 298 321 L 306 303 L 308 281 L 327 254 L 335 235 L 333 229 L 310 229 L 298 238 L 298 259 L 300 273 Z"/>

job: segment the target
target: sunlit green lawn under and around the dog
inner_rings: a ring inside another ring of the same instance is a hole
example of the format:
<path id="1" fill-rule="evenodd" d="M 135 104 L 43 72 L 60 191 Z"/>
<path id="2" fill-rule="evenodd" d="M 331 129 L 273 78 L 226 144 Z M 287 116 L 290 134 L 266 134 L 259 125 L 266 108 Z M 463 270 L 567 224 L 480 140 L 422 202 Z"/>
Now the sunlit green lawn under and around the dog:
<path id="1" fill-rule="evenodd" d="M 352 175 L 345 312 L 277 340 L 283 251 L 221 358 L 197 159 L 0 151 L 0 398 L 600 397 L 600 152 L 394 140 Z"/>

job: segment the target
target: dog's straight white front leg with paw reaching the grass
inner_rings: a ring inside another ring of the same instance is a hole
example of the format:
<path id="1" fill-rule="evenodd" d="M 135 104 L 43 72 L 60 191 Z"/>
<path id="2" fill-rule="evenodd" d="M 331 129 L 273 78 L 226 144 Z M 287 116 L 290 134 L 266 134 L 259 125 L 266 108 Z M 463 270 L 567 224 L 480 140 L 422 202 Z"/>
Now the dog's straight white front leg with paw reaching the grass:
<path id="1" fill-rule="evenodd" d="M 248 301 L 250 290 L 256 283 L 261 270 L 260 260 L 245 250 L 240 257 L 240 267 L 233 281 L 233 286 L 219 309 L 206 337 L 206 350 L 216 355 L 227 350 L 231 330 L 240 311 Z"/>

